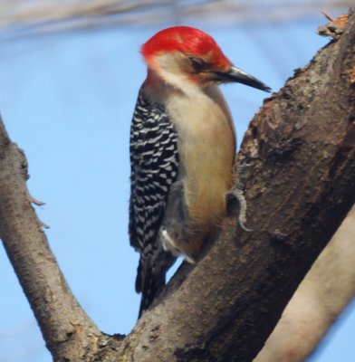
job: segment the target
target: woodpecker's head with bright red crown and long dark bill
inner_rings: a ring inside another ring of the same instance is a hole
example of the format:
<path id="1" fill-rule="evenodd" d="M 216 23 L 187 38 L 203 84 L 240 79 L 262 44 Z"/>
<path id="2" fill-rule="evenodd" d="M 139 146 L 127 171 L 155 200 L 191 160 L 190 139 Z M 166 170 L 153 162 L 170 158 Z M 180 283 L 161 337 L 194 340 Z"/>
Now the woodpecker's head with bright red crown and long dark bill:
<path id="1" fill-rule="evenodd" d="M 216 41 L 196 28 L 174 26 L 161 30 L 143 44 L 141 53 L 149 71 L 178 88 L 186 82 L 200 87 L 239 82 L 270 91 L 262 81 L 236 68 Z"/>

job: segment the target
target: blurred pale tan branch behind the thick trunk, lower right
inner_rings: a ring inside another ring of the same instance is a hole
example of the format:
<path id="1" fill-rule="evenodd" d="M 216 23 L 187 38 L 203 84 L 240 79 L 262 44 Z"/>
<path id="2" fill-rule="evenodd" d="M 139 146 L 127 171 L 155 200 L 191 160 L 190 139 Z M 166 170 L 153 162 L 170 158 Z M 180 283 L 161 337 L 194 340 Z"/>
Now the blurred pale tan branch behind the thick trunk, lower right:
<path id="1" fill-rule="evenodd" d="M 355 207 L 283 310 L 254 362 L 302 362 L 355 297 Z"/>

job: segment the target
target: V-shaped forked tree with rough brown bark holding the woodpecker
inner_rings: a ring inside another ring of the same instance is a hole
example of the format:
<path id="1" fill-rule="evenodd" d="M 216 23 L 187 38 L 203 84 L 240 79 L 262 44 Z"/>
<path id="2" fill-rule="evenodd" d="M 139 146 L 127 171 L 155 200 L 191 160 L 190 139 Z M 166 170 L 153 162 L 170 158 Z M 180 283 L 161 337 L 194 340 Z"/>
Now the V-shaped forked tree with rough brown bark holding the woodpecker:
<path id="1" fill-rule="evenodd" d="M 257 157 L 244 175 L 254 231 L 237 227 L 234 207 L 206 256 L 180 268 L 120 346 L 72 296 L 29 202 L 24 156 L 0 129 L 0 236 L 54 359 L 253 360 L 354 203 L 354 144 L 352 14 L 246 132 L 240 158 Z"/>

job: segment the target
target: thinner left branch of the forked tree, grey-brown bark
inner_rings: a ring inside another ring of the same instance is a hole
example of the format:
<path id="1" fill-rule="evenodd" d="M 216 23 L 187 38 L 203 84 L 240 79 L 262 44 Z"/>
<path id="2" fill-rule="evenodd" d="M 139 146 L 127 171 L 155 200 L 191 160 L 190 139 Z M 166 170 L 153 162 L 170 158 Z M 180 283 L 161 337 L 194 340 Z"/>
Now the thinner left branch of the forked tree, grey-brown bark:
<path id="1" fill-rule="evenodd" d="M 1 119 L 0 170 L 0 237 L 47 348 L 58 360 L 89 360 L 86 351 L 96 349 L 101 332 L 64 280 L 29 201 L 24 153 L 10 141 Z"/>

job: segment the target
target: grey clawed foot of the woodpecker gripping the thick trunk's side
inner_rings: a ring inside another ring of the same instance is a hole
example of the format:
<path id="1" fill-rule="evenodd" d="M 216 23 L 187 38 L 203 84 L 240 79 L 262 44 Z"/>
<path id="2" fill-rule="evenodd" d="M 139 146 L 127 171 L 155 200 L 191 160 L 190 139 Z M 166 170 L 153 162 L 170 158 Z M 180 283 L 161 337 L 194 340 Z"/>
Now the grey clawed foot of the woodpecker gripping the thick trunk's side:
<path id="1" fill-rule="evenodd" d="M 237 175 L 236 175 L 236 186 L 229 191 L 227 197 L 233 197 L 236 199 L 239 205 L 239 214 L 238 214 L 238 224 L 240 227 L 245 230 L 245 232 L 252 232 L 252 229 L 249 229 L 245 226 L 246 224 L 246 200 L 244 195 L 245 188 L 245 168 L 249 167 L 251 162 L 259 159 L 259 157 L 244 157 L 238 165 Z"/>

